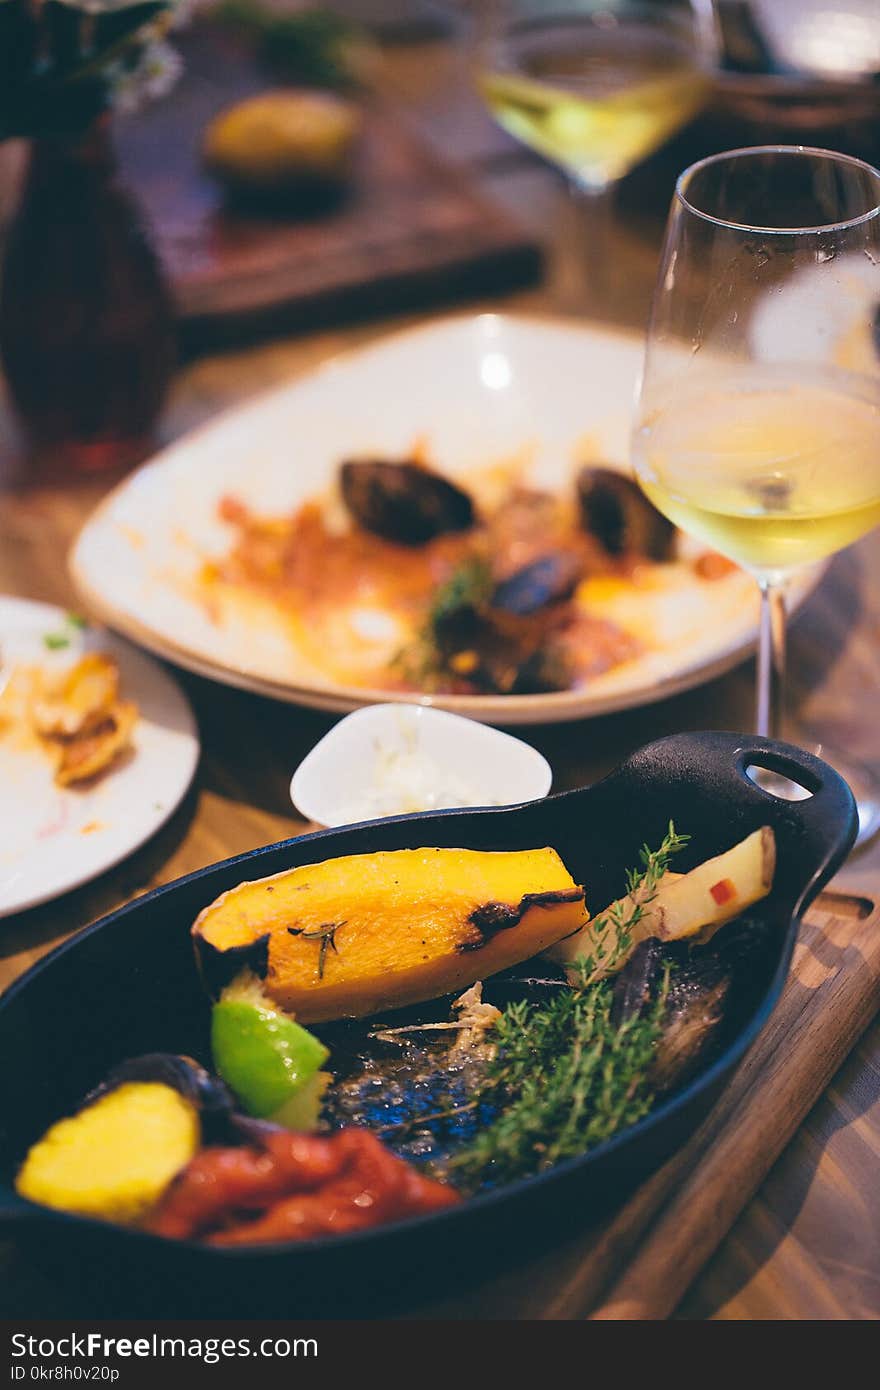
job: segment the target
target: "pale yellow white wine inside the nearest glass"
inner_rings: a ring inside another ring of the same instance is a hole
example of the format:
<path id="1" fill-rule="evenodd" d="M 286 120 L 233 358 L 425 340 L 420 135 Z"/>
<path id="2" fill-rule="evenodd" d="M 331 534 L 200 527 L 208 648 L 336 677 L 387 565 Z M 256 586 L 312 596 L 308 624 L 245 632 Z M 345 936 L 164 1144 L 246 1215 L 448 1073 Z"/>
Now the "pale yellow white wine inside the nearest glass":
<path id="1" fill-rule="evenodd" d="M 880 396 L 852 373 L 722 373 L 646 417 L 637 457 L 660 512 L 759 574 L 823 560 L 880 523 Z"/>

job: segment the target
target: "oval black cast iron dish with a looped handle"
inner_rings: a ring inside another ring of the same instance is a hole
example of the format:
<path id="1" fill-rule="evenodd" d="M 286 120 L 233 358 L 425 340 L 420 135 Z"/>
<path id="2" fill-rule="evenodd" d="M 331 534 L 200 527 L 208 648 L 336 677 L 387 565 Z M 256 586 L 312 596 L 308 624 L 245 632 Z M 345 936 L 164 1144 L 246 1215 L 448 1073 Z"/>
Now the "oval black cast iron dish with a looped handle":
<path id="1" fill-rule="evenodd" d="M 812 795 L 780 801 L 747 777 L 751 764 L 781 773 Z M 243 878 L 377 849 L 552 845 L 595 908 L 623 891 L 641 845 L 659 844 L 670 817 L 692 837 L 676 865 L 681 869 L 762 824 L 773 827 L 777 872 L 758 909 L 772 945 L 756 956 L 749 1008 L 720 1055 L 601 1148 L 449 1212 L 352 1237 L 250 1250 L 164 1241 L 15 1197 L 14 1172 L 29 1144 L 111 1065 L 153 1051 L 207 1059 L 209 1008 L 189 927 L 206 903 Z M 703 1118 L 773 1011 L 799 917 L 848 853 L 855 830 L 849 788 L 816 758 L 738 734 L 680 734 L 649 744 L 581 791 L 509 809 L 321 831 L 189 874 L 79 933 L 0 999 L 0 1216 L 21 1222 L 25 1244 L 44 1252 L 68 1287 L 79 1290 L 71 1307 L 82 1308 L 86 1298 L 93 1312 L 359 1315 L 417 1301 L 438 1284 L 460 1289 L 485 1277 L 495 1259 L 608 1213 Z M 92 1293 L 83 1294 L 86 1289 Z"/>

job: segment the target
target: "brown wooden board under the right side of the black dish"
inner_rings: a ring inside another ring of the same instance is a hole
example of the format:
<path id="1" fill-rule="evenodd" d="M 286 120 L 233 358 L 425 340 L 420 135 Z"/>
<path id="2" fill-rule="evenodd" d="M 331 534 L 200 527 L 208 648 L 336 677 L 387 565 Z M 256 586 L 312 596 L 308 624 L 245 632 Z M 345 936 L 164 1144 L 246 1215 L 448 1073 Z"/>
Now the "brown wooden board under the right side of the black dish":
<path id="1" fill-rule="evenodd" d="M 482 1286 L 467 1316 L 669 1318 L 877 1008 L 880 905 L 824 892 L 773 1017 L 687 1147 L 588 1237 Z"/>

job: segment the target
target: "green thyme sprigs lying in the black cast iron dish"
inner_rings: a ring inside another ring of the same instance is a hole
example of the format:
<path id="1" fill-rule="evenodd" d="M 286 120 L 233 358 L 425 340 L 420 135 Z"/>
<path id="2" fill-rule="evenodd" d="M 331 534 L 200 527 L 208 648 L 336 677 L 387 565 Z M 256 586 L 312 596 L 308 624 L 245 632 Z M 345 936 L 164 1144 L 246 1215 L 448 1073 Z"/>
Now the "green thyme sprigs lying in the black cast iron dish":
<path id="1" fill-rule="evenodd" d="M 471 1104 L 496 1118 L 452 1159 L 452 1179 L 477 1187 L 510 1182 L 587 1152 L 634 1125 L 653 1104 L 651 1063 L 663 1029 L 669 969 L 638 1016 L 612 1020 L 613 986 L 596 970 L 620 963 L 670 858 L 687 844 L 674 826 L 659 849 L 641 852 L 627 876 L 628 897 L 591 924 L 595 952 L 570 970 L 573 987 L 546 1004 L 507 1005 L 495 1024 L 496 1052 Z"/>

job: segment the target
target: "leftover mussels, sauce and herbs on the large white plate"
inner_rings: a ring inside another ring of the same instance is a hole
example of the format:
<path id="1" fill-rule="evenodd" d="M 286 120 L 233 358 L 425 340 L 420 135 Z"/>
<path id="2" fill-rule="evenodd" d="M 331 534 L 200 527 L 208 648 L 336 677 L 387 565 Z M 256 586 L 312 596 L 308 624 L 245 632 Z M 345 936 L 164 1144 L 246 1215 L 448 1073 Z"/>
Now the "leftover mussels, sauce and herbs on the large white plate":
<path id="1" fill-rule="evenodd" d="M 665 612 L 733 566 L 678 553 L 671 525 L 624 474 L 589 464 L 562 492 L 521 464 L 464 484 L 413 450 L 350 459 L 336 489 L 289 516 L 220 505 L 228 552 L 200 595 L 268 605 L 334 681 L 385 691 L 569 691 L 669 641 Z"/>

